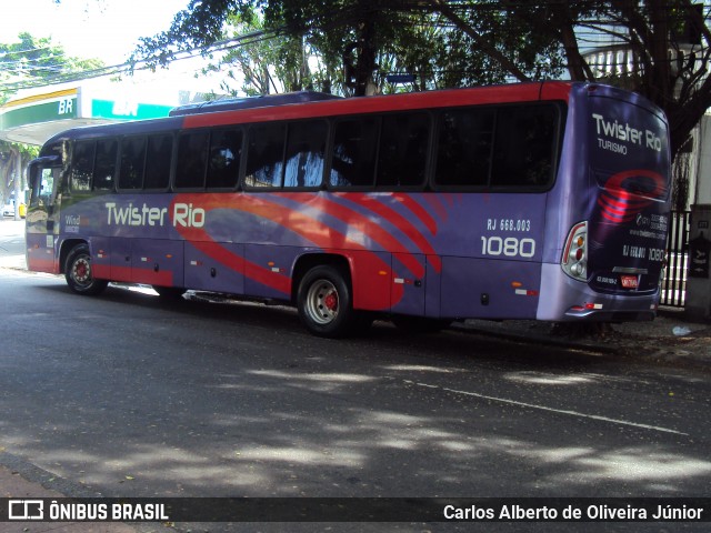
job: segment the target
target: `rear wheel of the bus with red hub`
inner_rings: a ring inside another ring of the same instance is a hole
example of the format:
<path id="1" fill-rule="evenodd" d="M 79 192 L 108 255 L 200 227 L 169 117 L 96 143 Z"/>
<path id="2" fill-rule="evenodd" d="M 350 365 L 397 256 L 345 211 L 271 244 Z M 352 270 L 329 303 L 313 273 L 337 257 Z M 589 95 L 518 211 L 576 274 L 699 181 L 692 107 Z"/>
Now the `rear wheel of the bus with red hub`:
<path id="1" fill-rule="evenodd" d="M 336 266 L 316 266 L 306 273 L 299 283 L 297 308 L 301 322 L 314 335 L 338 339 L 351 333 L 351 289 Z"/>

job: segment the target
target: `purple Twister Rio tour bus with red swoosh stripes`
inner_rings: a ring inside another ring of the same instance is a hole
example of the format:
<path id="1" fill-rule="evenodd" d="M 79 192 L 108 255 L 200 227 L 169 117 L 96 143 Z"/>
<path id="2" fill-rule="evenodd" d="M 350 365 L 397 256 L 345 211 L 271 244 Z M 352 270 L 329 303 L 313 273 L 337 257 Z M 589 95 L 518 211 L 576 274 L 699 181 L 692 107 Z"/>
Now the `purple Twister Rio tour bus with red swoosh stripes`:
<path id="1" fill-rule="evenodd" d="M 284 302 L 322 336 L 657 312 L 668 124 L 605 86 L 190 107 L 57 134 L 29 175 L 28 266 L 79 294 Z"/>

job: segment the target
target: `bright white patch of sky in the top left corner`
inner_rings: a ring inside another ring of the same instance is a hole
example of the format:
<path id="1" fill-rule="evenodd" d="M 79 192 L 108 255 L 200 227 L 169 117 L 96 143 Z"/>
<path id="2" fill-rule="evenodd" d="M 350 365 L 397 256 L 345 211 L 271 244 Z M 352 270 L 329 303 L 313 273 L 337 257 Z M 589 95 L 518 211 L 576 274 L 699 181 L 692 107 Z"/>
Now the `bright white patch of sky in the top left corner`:
<path id="1" fill-rule="evenodd" d="M 13 0 L 4 2 L 0 42 L 17 42 L 18 33 L 51 37 L 68 56 L 121 64 L 139 38 L 167 30 L 189 0 Z"/>

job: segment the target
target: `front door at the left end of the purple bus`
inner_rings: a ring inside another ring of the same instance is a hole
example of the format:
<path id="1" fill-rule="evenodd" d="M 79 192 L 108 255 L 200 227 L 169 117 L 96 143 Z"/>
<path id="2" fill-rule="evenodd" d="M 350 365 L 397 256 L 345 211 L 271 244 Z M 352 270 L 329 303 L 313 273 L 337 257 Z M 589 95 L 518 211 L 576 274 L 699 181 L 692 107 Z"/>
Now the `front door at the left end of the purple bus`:
<path id="1" fill-rule="evenodd" d="M 38 158 L 28 169 L 30 204 L 26 217 L 27 265 L 36 272 L 59 272 L 54 247 L 59 234 L 61 158 Z"/>

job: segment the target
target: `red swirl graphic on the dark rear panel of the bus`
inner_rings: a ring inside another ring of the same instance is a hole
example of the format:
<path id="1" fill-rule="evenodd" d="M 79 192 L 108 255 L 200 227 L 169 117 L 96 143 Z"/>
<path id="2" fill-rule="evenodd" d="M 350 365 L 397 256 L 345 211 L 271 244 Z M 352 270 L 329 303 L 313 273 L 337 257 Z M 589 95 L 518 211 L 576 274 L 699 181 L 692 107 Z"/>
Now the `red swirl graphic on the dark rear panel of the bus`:
<path id="1" fill-rule="evenodd" d="M 628 170 L 610 177 L 598 199 L 602 218 L 615 224 L 631 222 L 667 193 L 664 178 L 651 170 Z"/>

